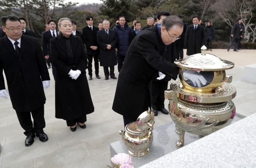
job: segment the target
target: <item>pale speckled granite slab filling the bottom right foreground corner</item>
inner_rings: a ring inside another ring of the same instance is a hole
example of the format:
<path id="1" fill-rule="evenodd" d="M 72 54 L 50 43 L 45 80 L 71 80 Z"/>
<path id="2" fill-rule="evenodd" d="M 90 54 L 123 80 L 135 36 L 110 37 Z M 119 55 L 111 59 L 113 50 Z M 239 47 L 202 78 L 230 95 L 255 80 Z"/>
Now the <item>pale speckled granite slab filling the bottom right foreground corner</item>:
<path id="1" fill-rule="evenodd" d="M 256 114 L 139 168 L 255 168 Z"/>

